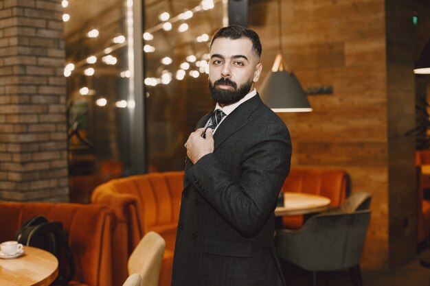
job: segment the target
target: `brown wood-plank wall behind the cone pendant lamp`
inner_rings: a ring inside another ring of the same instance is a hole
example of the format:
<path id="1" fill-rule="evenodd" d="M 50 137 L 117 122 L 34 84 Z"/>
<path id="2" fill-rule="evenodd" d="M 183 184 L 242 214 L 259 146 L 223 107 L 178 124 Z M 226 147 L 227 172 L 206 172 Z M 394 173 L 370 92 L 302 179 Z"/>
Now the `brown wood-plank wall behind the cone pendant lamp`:
<path id="1" fill-rule="evenodd" d="M 251 23 L 260 19 L 251 28 L 260 34 L 266 71 L 278 52 L 276 9 L 277 1 L 271 0 L 255 2 L 250 10 Z M 387 105 L 385 1 L 282 0 L 282 29 L 284 60 L 302 86 L 333 87 L 332 95 L 308 97 L 313 112 L 280 115 L 291 131 L 293 167 L 343 168 L 351 175 L 352 191 L 372 193 L 362 267 L 388 267 L 388 114 L 401 106 Z"/>

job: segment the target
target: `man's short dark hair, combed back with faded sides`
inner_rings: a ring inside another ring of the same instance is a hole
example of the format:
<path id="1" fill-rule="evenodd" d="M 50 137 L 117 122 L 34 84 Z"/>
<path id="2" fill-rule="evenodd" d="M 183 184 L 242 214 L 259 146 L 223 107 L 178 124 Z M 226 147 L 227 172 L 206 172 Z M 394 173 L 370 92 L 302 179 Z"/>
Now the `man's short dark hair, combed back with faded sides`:
<path id="1" fill-rule="evenodd" d="M 212 36 L 212 40 L 210 40 L 209 45 L 210 49 L 212 48 L 212 45 L 217 38 L 230 38 L 231 40 L 237 40 L 239 38 L 249 38 L 249 40 L 251 40 L 252 42 L 253 51 L 259 57 L 261 56 L 262 47 L 260 38 L 258 37 L 258 34 L 251 29 L 236 25 L 222 27 L 218 29 L 218 31 L 216 31 L 214 36 Z"/>

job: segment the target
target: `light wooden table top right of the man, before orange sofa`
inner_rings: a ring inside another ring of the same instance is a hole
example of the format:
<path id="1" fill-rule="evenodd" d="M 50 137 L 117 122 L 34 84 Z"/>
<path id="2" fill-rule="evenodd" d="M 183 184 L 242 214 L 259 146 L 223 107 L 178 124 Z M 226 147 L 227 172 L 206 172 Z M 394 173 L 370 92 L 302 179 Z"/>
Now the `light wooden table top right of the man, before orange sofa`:
<path id="1" fill-rule="evenodd" d="M 284 206 L 278 206 L 275 209 L 275 215 L 280 217 L 283 215 L 319 213 L 328 209 L 329 204 L 330 199 L 322 195 L 284 192 Z"/>

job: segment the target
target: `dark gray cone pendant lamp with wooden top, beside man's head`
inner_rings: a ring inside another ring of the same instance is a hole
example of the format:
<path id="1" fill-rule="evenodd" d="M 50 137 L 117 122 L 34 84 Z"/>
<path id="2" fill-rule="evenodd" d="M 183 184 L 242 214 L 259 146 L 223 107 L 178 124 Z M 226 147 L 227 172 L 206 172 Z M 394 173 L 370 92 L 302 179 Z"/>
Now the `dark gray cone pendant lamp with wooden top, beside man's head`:
<path id="1" fill-rule="evenodd" d="M 282 59 L 281 1 L 278 0 L 279 53 L 260 88 L 264 104 L 274 112 L 310 112 L 312 108 L 299 80 Z"/>

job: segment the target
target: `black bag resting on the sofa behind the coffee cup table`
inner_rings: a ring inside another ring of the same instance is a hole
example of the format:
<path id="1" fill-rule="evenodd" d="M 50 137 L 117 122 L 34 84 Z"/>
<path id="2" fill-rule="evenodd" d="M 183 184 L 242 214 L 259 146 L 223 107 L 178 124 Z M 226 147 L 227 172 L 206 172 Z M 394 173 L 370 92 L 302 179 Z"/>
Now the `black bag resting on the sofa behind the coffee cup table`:
<path id="1" fill-rule="evenodd" d="M 24 246 L 41 248 L 56 256 L 58 276 L 53 285 L 66 285 L 75 275 L 73 255 L 61 222 L 49 222 L 43 215 L 36 215 L 21 225 L 15 240 Z"/>

